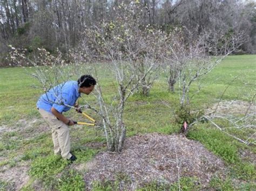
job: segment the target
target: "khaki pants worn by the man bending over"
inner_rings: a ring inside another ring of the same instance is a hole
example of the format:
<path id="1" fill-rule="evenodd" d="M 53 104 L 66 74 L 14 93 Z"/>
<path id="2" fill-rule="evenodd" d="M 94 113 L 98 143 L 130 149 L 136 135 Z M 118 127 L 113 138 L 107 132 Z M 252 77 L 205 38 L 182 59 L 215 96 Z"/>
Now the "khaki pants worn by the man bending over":
<path id="1" fill-rule="evenodd" d="M 68 125 L 62 121 L 59 121 L 53 114 L 49 112 L 43 109 L 38 110 L 51 128 L 54 153 L 61 153 L 62 158 L 70 159 L 72 154 L 70 153 L 70 136 Z"/>

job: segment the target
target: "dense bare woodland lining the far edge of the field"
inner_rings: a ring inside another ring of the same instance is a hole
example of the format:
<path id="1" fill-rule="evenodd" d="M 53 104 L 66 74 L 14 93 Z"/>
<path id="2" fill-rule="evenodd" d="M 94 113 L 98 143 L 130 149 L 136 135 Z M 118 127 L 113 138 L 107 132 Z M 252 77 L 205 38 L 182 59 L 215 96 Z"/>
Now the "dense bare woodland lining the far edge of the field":
<path id="1" fill-rule="evenodd" d="M 256 53 L 256 3 L 240 0 L 2 0 L 0 4 L 0 55 L 3 65 L 8 45 L 38 47 L 49 52 L 76 48 L 90 27 L 111 23 L 120 4 L 140 4 L 139 27 L 161 31 L 186 27 L 199 35 L 207 31 L 245 31 L 245 53 Z"/>

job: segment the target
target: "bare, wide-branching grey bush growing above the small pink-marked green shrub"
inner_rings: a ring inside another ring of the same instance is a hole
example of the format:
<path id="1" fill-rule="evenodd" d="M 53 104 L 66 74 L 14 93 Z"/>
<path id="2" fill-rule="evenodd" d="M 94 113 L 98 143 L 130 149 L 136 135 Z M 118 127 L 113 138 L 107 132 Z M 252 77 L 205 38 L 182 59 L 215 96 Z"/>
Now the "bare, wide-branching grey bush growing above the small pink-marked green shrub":
<path id="1" fill-rule="evenodd" d="M 177 29 L 169 34 L 165 62 L 170 68 L 169 86 L 174 91 L 178 81 L 180 104 L 190 103 L 191 84 L 215 68 L 227 55 L 236 51 L 246 36 L 244 33 L 197 32 Z"/>

